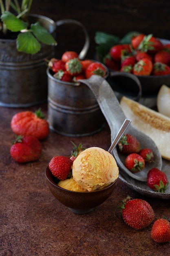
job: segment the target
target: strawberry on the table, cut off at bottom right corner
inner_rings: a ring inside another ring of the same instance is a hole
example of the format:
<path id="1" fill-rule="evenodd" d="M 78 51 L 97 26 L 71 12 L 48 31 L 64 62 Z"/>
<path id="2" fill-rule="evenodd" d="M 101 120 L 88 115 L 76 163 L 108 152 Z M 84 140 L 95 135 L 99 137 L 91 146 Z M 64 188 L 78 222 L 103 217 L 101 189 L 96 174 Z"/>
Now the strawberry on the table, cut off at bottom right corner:
<path id="1" fill-rule="evenodd" d="M 151 238 L 157 243 L 170 242 L 170 221 L 166 218 L 156 220 L 152 226 Z"/>

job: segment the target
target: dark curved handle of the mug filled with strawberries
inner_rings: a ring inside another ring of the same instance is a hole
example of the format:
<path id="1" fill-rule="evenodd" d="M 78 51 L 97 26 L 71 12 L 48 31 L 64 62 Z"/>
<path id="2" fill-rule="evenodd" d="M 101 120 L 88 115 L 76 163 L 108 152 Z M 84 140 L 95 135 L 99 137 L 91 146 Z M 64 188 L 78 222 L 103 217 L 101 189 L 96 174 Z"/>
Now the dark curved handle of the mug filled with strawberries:
<path id="1" fill-rule="evenodd" d="M 119 72 L 119 71 L 113 71 L 113 72 L 110 72 L 109 74 L 109 77 L 112 77 L 112 76 L 126 76 L 132 80 L 135 81 L 137 87 L 138 87 L 138 94 L 137 94 L 137 97 L 135 98 L 135 101 L 139 101 L 139 99 L 141 98 L 142 96 L 142 88 L 141 88 L 141 82 L 139 81 L 139 79 L 137 78 L 137 76 L 135 76 L 134 74 L 130 74 L 128 72 Z"/>

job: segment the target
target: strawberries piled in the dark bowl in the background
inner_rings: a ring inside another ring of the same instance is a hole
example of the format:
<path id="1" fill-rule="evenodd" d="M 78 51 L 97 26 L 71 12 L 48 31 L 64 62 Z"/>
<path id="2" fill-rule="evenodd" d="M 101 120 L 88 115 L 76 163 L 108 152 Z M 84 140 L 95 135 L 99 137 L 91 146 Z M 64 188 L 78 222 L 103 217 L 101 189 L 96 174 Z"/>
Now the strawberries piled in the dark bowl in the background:
<path id="1" fill-rule="evenodd" d="M 170 44 L 163 45 L 152 34 L 139 34 L 130 44 L 110 48 L 104 64 L 115 71 L 137 76 L 163 76 L 170 74 Z"/>

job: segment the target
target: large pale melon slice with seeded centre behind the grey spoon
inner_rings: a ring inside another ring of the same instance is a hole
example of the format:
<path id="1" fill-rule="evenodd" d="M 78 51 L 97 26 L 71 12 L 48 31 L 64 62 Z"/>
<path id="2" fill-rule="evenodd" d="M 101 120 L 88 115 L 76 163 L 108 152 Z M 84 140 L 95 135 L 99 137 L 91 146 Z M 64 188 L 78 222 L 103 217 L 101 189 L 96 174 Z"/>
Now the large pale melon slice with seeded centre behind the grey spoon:
<path id="1" fill-rule="evenodd" d="M 161 156 L 170 160 L 170 118 L 126 97 L 120 106 L 132 125 L 153 139 Z"/>

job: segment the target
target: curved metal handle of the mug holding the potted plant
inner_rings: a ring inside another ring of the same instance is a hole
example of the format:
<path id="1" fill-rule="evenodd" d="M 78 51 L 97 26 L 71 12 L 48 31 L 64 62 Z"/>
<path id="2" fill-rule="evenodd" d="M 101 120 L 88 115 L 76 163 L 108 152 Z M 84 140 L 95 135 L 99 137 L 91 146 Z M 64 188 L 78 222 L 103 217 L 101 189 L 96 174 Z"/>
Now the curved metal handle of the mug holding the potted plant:
<path id="1" fill-rule="evenodd" d="M 89 39 L 88 32 L 87 32 L 86 28 L 84 27 L 84 25 L 81 22 L 79 22 L 77 20 L 64 19 L 64 20 L 58 20 L 56 22 L 57 27 L 59 27 L 63 24 L 75 24 L 83 29 L 84 35 L 85 35 L 85 43 L 84 43 L 84 47 L 83 47 L 82 51 L 79 53 L 79 59 L 80 60 L 84 59 L 87 54 L 89 45 L 90 45 L 90 39 Z"/>

